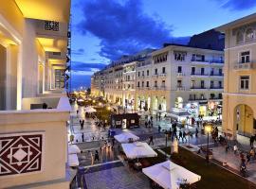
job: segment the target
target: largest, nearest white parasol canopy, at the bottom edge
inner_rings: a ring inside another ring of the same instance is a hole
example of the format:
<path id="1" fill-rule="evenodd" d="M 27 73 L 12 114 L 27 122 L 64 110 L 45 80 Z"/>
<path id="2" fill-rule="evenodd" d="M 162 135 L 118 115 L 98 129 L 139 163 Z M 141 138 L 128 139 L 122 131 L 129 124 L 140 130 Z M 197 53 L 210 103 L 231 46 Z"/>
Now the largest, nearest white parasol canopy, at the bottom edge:
<path id="1" fill-rule="evenodd" d="M 142 172 L 164 189 L 178 189 L 179 184 L 182 183 L 183 180 L 186 180 L 188 183 L 201 180 L 201 176 L 171 161 L 143 168 Z"/>

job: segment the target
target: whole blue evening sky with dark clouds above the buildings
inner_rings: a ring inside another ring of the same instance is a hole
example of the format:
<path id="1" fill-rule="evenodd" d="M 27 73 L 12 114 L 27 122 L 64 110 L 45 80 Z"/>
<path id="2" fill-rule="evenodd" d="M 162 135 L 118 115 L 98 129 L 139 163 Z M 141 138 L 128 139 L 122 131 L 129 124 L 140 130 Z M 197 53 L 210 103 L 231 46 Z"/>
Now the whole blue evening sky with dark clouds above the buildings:
<path id="1" fill-rule="evenodd" d="M 110 60 L 256 12 L 256 0 L 72 0 L 72 88 Z"/>

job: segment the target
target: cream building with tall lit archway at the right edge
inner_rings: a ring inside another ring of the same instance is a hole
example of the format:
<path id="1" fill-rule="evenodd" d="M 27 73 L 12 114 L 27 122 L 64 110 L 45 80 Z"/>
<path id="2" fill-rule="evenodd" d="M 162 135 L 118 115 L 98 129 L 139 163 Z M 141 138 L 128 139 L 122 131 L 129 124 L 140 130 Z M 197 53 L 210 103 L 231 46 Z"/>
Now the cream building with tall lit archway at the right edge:
<path id="1" fill-rule="evenodd" d="M 255 26 L 252 14 L 217 28 L 226 35 L 223 130 L 238 140 L 256 133 Z"/>

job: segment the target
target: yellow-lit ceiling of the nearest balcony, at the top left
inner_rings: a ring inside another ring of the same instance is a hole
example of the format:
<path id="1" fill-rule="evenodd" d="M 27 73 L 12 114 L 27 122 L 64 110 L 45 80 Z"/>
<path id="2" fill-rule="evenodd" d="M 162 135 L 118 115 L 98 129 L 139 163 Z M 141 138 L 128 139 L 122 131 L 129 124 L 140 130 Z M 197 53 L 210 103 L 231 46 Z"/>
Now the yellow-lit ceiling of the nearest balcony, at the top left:
<path id="1" fill-rule="evenodd" d="M 24 17 L 68 23 L 70 0 L 15 0 Z"/>

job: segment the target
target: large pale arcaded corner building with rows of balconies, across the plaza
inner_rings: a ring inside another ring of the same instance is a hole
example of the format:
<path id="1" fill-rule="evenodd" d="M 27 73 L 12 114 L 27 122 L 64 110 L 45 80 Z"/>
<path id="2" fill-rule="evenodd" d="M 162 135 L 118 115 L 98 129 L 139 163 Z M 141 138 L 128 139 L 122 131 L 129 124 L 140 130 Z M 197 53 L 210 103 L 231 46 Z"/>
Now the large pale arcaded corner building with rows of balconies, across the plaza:
<path id="1" fill-rule="evenodd" d="M 162 112 L 178 114 L 179 111 L 195 116 L 218 115 L 223 92 L 224 52 L 218 47 L 219 43 L 213 43 L 214 49 L 210 48 L 211 42 L 209 48 L 203 45 L 204 41 L 194 45 L 212 35 L 223 41 L 221 33 L 210 30 L 196 35 L 195 39 L 192 37 L 191 45 L 166 43 L 144 60 L 122 64 L 122 105 L 133 104 L 138 112 L 162 115 Z M 108 73 L 107 83 L 108 77 L 115 80 L 116 75 Z M 118 93 L 116 82 L 111 82 L 113 84 L 111 99 Z M 105 86 L 105 90 L 108 89 L 109 86 Z"/>

